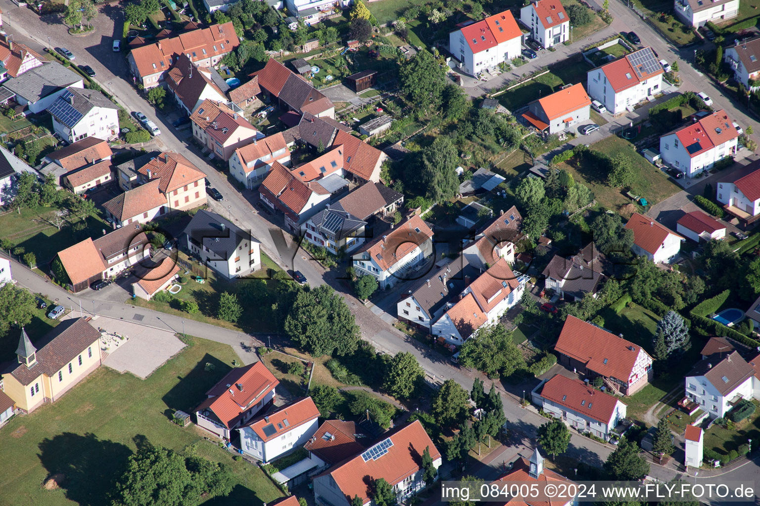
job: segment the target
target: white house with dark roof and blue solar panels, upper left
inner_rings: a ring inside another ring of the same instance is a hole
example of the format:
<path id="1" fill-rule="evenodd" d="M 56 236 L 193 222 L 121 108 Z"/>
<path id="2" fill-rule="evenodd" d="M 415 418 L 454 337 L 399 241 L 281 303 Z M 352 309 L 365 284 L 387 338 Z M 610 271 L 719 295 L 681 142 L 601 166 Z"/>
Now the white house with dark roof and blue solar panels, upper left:
<path id="1" fill-rule="evenodd" d="M 119 135 L 119 108 L 99 91 L 69 86 L 49 105 L 52 127 L 69 143 Z"/>

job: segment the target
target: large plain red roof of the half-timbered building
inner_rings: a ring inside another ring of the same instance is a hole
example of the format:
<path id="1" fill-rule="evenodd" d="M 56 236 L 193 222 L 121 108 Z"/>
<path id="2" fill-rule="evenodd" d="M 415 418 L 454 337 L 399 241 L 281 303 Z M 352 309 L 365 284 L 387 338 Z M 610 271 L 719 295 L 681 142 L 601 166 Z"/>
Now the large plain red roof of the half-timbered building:
<path id="1" fill-rule="evenodd" d="M 554 349 L 584 363 L 597 374 L 626 383 L 633 374 L 633 366 L 641 352 L 638 344 L 610 334 L 575 316 L 565 319 Z"/>

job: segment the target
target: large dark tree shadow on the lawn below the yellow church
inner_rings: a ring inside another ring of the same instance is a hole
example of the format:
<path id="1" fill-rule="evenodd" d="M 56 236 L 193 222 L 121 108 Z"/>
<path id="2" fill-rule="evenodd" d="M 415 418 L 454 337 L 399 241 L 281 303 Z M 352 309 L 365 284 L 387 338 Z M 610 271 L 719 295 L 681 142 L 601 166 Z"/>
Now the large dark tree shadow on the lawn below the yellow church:
<path id="1" fill-rule="evenodd" d="M 59 486 L 66 498 L 81 505 L 103 504 L 132 451 L 96 435 L 63 432 L 40 445 L 40 462 L 49 476 L 63 474 Z"/>

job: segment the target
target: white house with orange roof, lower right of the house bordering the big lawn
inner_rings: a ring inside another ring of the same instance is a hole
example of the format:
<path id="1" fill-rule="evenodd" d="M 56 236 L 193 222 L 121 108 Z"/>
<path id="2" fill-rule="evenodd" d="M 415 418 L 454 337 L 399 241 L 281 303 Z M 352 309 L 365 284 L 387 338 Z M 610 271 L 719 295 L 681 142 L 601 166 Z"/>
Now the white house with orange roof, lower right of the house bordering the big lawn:
<path id="1" fill-rule="evenodd" d="M 312 398 L 293 401 L 237 429 L 243 453 L 267 463 L 301 448 L 317 432 L 319 410 Z"/>

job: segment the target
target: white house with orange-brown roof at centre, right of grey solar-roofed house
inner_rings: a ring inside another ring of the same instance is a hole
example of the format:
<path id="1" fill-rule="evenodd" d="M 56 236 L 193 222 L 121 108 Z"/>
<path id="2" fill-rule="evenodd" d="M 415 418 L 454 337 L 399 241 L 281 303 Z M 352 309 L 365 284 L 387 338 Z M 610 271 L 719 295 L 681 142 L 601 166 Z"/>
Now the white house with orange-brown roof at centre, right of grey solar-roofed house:
<path id="1" fill-rule="evenodd" d="M 418 215 L 400 223 L 353 255 L 357 275 L 371 274 L 380 288 L 414 279 L 411 272 L 432 255 L 432 230 Z"/>

